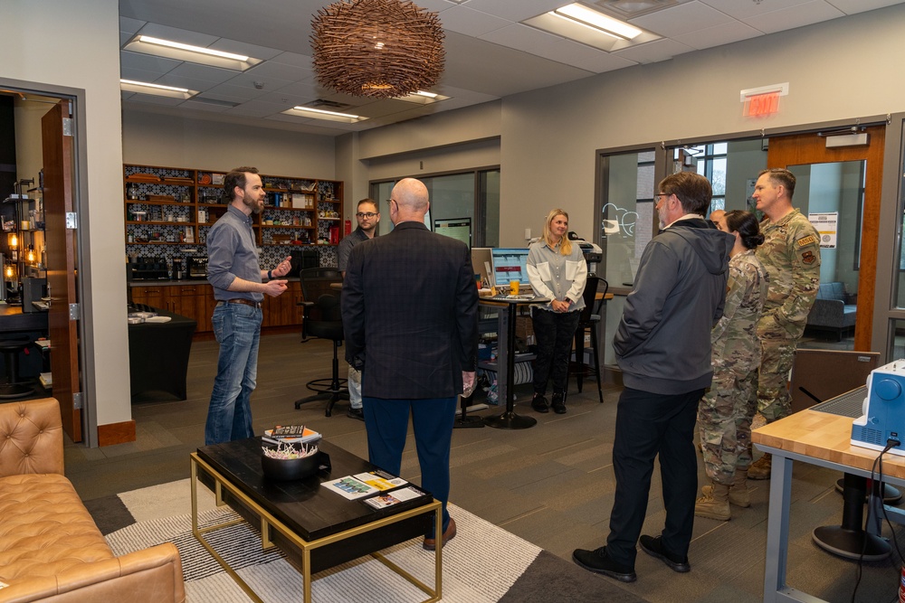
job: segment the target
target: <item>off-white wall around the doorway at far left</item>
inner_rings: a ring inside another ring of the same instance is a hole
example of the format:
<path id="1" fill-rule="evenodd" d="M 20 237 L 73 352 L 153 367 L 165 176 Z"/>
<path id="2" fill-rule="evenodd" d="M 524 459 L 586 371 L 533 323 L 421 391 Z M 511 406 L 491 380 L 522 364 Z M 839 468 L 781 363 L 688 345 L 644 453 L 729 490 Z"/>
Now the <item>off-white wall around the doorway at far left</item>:
<path id="1" fill-rule="evenodd" d="M 84 327 L 94 356 L 85 379 L 100 425 L 131 419 L 126 341 L 122 146 L 119 118 L 119 5 L 117 0 L 3 0 L 0 2 L 0 79 L 33 82 L 34 90 L 84 90 L 87 191 L 81 199 L 85 261 L 79 278 L 90 308 Z M 103 367 L 101 374 L 91 371 Z"/>

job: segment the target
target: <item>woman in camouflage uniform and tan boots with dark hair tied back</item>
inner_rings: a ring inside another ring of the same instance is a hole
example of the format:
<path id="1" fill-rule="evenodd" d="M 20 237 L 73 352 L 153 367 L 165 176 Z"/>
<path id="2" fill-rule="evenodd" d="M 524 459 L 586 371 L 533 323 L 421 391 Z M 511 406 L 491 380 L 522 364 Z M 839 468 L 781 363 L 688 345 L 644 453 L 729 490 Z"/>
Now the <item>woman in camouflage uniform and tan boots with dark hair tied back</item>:
<path id="1" fill-rule="evenodd" d="M 710 485 L 701 489 L 694 513 L 726 521 L 731 517 L 729 503 L 750 505 L 746 479 L 751 420 L 757 411 L 757 321 L 769 283 L 754 251 L 764 240 L 757 218 L 735 211 L 720 216 L 718 224 L 721 231 L 736 235 L 736 243 L 730 252 L 726 306 L 710 331 L 713 383 L 698 406 L 700 447 Z"/>

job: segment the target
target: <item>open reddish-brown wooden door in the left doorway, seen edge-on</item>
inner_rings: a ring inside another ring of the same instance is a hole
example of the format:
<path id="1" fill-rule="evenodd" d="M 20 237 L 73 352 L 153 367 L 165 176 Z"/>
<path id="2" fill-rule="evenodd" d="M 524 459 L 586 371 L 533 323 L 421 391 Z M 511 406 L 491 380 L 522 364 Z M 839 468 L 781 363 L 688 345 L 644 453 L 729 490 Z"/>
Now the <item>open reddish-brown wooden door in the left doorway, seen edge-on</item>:
<path id="1" fill-rule="evenodd" d="M 81 442 L 81 410 L 75 408 L 81 392 L 78 323 L 70 319 L 70 304 L 78 303 L 75 279 L 75 231 L 67 228 L 66 214 L 73 203 L 73 140 L 71 101 L 61 100 L 41 118 L 44 165 L 44 221 L 47 245 L 47 288 L 52 298 L 47 323 L 51 337 L 53 397 L 60 401 L 62 427 L 73 442 Z M 64 120 L 67 120 L 64 124 Z"/>

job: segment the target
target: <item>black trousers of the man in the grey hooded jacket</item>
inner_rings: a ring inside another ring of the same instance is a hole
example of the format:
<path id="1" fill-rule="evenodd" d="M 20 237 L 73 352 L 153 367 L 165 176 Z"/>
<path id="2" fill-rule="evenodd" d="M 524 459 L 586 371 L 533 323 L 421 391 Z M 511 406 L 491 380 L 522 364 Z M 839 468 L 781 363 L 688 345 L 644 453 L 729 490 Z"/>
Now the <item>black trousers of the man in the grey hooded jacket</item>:
<path id="1" fill-rule="evenodd" d="M 687 555 L 698 491 L 694 422 L 704 390 L 664 395 L 625 388 L 616 407 L 613 470 L 616 491 L 606 552 L 634 567 L 635 546 L 647 513 L 653 460 L 660 456 L 666 524 L 663 546 Z"/>

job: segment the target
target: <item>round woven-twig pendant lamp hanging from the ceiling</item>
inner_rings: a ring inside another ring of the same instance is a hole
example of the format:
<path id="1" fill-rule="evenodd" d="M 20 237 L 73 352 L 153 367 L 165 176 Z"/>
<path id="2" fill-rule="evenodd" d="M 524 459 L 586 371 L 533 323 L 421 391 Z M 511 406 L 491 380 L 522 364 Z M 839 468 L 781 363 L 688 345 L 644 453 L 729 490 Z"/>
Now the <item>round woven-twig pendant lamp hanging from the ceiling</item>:
<path id="1" fill-rule="evenodd" d="M 408 0 L 342 0 L 321 8 L 311 30 L 318 81 L 343 94 L 402 97 L 443 73 L 440 19 Z"/>

